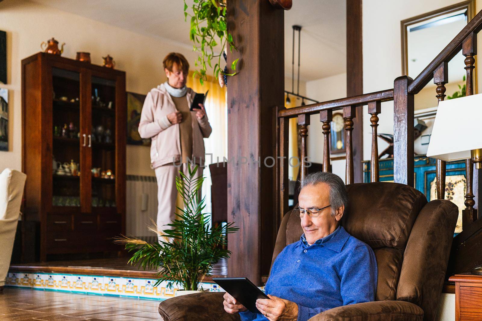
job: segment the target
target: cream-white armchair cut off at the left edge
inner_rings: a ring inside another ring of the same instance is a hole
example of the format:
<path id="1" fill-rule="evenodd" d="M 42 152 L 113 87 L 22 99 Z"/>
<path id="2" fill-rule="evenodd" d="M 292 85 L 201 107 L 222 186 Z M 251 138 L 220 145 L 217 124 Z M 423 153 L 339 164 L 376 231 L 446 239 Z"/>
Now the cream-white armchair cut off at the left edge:
<path id="1" fill-rule="evenodd" d="M 5 285 L 27 175 L 6 168 L 0 174 L 0 293 Z"/>

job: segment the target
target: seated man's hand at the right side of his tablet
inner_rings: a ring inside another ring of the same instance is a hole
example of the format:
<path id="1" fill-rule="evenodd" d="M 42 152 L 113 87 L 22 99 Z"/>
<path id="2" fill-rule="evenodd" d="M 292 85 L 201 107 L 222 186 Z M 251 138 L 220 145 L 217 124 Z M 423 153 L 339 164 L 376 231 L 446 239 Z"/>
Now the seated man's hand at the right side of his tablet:
<path id="1" fill-rule="evenodd" d="M 298 305 L 274 295 L 269 295 L 269 299 L 257 299 L 256 308 L 269 321 L 296 321 L 298 319 Z"/>

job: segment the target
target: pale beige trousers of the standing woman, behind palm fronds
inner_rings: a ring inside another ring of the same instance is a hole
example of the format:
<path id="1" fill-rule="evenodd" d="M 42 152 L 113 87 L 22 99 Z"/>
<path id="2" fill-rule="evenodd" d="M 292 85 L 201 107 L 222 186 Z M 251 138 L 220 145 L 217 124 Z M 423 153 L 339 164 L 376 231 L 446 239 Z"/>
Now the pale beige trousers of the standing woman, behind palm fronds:
<path id="1" fill-rule="evenodd" d="M 164 231 L 167 229 L 172 229 L 166 224 L 170 224 L 175 218 L 174 213 L 179 210 L 176 208 L 176 176 L 179 177 L 179 171 L 182 169 L 183 173 L 187 176 L 189 171 L 187 170 L 187 164 L 182 164 L 182 166 L 174 166 L 172 164 L 163 165 L 154 169 L 157 179 L 157 229 L 158 231 Z M 202 175 L 203 168 L 198 167 L 196 175 L 194 178 L 198 178 Z M 201 196 L 201 188 L 198 192 Z M 162 237 L 158 237 L 161 241 Z"/>

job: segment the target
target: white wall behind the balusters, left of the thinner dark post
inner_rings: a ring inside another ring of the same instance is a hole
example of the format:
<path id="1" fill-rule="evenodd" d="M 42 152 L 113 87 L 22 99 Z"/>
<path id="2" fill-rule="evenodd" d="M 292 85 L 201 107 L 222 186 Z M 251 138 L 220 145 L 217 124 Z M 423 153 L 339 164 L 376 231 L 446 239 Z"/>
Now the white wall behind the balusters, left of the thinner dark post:
<path id="1" fill-rule="evenodd" d="M 306 82 L 307 97 L 325 102 L 347 96 L 347 74 Z M 308 126 L 308 157 L 315 163 L 323 163 L 323 130 L 319 114 L 311 115 Z M 336 155 L 335 155 L 336 156 Z M 345 180 L 345 160 L 331 162 L 332 172 Z"/>

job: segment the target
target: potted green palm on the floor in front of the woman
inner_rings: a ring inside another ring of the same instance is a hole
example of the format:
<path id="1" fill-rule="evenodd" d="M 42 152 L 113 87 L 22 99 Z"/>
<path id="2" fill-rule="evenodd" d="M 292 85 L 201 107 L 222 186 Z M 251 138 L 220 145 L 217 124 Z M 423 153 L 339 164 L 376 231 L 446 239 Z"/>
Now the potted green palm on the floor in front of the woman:
<path id="1" fill-rule="evenodd" d="M 130 236 L 116 239 L 116 243 L 125 244 L 126 250 L 134 252 L 129 263 L 138 264 L 144 270 L 158 270 L 154 286 L 167 281 L 168 287 L 176 284 L 184 289 L 176 291 L 176 295 L 202 291 L 199 284 L 206 276 L 211 276 L 213 265 L 231 254 L 223 246 L 227 244 L 227 234 L 239 229 L 233 222 L 210 226 L 210 215 L 202 213 L 204 198 L 198 196 L 204 177 L 194 178 L 197 168 L 188 166 L 188 175 L 180 172 L 180 177 L 176 177 L 176 188 L 184 208 L 177 207 L 177 218 L 168 224 L 171 229 L 149 228 L 162 235 L 163 241 L 150 244 Z"/>

